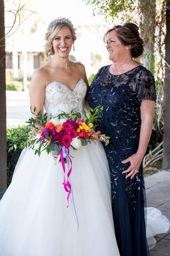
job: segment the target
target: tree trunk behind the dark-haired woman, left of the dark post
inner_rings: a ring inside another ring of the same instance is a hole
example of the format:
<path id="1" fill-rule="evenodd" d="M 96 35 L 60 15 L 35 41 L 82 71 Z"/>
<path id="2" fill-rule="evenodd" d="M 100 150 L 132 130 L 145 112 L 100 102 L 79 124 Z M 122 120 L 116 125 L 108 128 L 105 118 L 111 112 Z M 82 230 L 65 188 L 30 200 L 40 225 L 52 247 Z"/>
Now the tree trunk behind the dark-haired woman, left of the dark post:
<path id="1" fill-rule="evenodd" d="M 156 0 L 139 0 L 139 8 L 141 10 L 141 37 L 144 40 L 143 65 L 154 74 Z"/>

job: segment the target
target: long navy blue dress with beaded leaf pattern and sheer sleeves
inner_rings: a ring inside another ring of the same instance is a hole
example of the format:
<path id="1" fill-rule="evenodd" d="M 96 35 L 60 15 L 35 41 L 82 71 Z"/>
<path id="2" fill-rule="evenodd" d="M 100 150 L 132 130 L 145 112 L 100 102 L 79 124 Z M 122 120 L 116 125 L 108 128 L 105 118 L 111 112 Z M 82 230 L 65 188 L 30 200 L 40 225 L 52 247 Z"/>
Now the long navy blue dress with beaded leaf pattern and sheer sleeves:
<path id="1" fill-rule="evenodd" d="M 112 75 L 109 66 L 100 68 L 88 92 L 91 108 L 104 107 L 97 129 L 110 136 L 105 148 L 111 172 L 112 214 L 121 256 L 148 256 L 144 218 L 143 167 L 134 179 L 125 179 L 137 152 L 141 129 L 141 101 L 155 100 L 155 83 L 142 65 L 120 75 Z M 114 255 L 112 255 L 114 256 Z"/>

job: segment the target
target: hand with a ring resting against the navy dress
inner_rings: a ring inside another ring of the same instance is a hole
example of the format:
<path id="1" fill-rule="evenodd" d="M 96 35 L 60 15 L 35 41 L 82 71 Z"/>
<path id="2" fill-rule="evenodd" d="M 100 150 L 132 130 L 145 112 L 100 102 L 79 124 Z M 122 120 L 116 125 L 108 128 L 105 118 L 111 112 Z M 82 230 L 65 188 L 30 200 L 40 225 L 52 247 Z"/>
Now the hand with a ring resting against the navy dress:
<path id="1" fill-rule="evenodd" d="M 127 170 L 122 172 L 122 173 L 128 173 L 126 175 L 126 179 L 128 177 L 130 177 L 130 179 L 134 178 L 135 174 L 139 172 L 139 168 L 141 166 L 142 161 L 143 161 L 143 156 L 136 153 L 121 162 L 123 164 L 130 162 L 130 167 Z"/>

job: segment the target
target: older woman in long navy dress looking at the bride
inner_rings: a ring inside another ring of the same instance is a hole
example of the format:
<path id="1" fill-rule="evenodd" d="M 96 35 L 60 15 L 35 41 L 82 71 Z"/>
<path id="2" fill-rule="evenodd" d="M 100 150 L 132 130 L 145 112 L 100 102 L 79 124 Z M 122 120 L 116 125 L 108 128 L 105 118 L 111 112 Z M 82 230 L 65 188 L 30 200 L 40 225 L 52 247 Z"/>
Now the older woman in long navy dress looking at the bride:
<path id="1" fill-rule="evenodd" d="M 88 92 L 91 108 L 104 106 L 98 129 L 111 172 L 112 213 L 121 256 L 146 256 L 142 161 L 151 136 L 155 83 L 135 61 L 143 53 L 138 27 L 127 23 L 104 36 L 112 65 L 100 68 Z"/>

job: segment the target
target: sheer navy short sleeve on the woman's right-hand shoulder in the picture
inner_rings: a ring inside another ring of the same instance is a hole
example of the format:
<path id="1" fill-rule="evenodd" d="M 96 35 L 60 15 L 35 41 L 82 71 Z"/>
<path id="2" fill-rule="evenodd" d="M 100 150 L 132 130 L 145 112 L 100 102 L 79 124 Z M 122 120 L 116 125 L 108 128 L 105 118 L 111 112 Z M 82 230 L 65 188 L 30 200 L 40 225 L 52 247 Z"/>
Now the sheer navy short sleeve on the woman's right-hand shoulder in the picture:
<path id="1" fill-rule="evenodd" d="M 155 79 L 151 72 L 144 68 L 140 70 L 136 84 L 137 99 L 156 100 Z"/>

